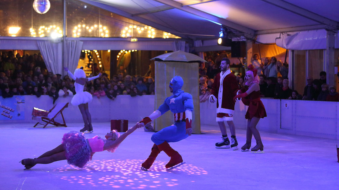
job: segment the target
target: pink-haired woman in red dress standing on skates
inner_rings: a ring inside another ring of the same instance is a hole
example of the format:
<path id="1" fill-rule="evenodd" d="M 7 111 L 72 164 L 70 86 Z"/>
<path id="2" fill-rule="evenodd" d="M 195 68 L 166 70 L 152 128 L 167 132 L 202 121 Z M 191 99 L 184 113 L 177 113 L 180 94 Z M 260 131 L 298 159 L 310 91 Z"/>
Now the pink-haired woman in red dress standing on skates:
<path id="1" fill-rule="evenodd" d="M 241 147 L 241 151 L 248 151 L 251 148 L 252 134 L 257 141 L 257 145 L 251 149 L 253 153 L 262 153 L 264 146 L 262 145 L 260 134 L 256 128 L 260 118 L 266 117 L 266 110 L 260 100 L 260 87 L 259 78 L 257 76 L 257 70 L 253 68 L 253 65 L 248 66 L 248 71 L 245 75 L 245 82 L 248 85 L 248 90 L 244 93 L 236 95 L 234 101 L 237 98 L 242 98 L 242 102 L 248 106 L 245 118 L 247 119 L 246 130 L 246 144 Z M 258 152 L 260 150 L 260 152 Z"/>

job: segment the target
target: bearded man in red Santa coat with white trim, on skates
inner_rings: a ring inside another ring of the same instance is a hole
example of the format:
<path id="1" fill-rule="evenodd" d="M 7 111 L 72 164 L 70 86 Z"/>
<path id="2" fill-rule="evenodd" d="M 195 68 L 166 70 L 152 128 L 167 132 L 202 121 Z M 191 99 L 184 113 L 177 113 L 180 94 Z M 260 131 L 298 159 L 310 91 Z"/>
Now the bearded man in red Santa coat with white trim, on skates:
<path id="1" fill-rule="evenodd" d="M 235 126 L 233 123 L 234 104 L 233 97 L 239 90 L 238 82 L 230 70 L 230 60 L 223 58 L 220 63 L 221 72 L 217 74 L 212 84 L 210 103 L 217 102 L 217 122 L 222 134 L 222 141 L 215 144 L 215 148 L 238 149 L 238 141 L 235 136 Z M 231 131 L 231 146 L 228 140 L 226 126 L 227 122 Z"/>

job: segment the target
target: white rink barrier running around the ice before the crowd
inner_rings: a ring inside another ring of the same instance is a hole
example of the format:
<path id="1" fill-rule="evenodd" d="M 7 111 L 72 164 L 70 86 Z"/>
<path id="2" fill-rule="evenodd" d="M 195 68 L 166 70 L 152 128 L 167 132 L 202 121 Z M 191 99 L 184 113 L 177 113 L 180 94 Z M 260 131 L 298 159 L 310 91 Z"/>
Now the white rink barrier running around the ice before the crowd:
<path id="1" fill-rule="evenodd" d="M 33 127 L 36 122 L 32 120 L 33 107 L 44 110 L 49 110 L 53 107 L 52 98 L 47 95 L 42 95 L 39 98 L 33 95 L 26 95 L 24 99 L 24 119 L 0 120 L 0 123 L 30 122 Z M 259 131 L 339 139 L 339 102 L 264 98 L 261 100 L 265 106 L 267 117 L 260 119 L 257 125 Z M 0 97 L 0 104 L 4 101 Z M 71 97 L 59 97 L 56 103 L 70 101 Z M 137 122 L 155 110 L 154 95 L 136 97 L 119 95 L 115 100 L 108 99 L 106 96 L 93 97 L 93 101 L 88 104 L 88 108 L 93 122 L 109 122 L 111 119 L 127 119 L 130 122 Z M 3 108 L 0 109 L 3 112 Z M 246 129 L 246 110 L 247 106 L 241 101 L 236 102 L 233 116 L 236 128 Z M 79 108 L 71 103 L 62 113 L 66 123 L 82 122 Z M 60 119 L 61 116 L 58 116 L 57 120 L 61 121 Z M 210 104 L 207 101 L 200 103 L 200 122 L 201 125 L 214 125 L 216 130 L 219 130 L 216 122 L 216 104 Z"/>

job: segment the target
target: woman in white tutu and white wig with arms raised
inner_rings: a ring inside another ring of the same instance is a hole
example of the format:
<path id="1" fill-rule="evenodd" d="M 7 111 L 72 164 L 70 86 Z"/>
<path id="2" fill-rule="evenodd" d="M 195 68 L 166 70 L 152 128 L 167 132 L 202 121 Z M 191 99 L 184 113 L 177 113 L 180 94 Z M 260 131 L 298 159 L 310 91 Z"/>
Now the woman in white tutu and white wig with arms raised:
<path id="1" fill-rule="evenodd" d="M 92 94 L 88 92 L 84 92 L 85 83 L 89 80 L 94 80 L 101 76 L 101 73 L 95 77 L 86 78 L 86 74 L 83 71 L 83 67 L 80 69 L 76 69 L 74 71 L 74 75 L 71 71 L 68 70 L 67 67 L 64 67 L 64 70 L 68 73 L 68 75 L 75 80 L 74 87 L 76 94 L 73 96 L 71 103 L 73 106 L 78 106 L 82 115 L 82 119 L 84 120 L 85 127 L 80 130 L 80 132 L 88 131 L 90 133 L 93 132 L 92 127 L 92 118 L 91 114 L 88 111 L 88 102 L 91 102 L 93 97 Z"/>

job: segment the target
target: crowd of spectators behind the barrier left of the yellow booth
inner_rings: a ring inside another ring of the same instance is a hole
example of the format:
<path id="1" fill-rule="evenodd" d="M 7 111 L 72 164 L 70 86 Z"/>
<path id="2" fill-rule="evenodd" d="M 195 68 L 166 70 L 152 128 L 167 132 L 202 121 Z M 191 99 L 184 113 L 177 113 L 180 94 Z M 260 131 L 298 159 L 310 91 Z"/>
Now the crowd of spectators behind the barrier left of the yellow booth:
<path id="1" fill-rule="evenodd" d="M 96 65 L 93 64 L 94 67 Z M 94 69 L 94 72 L 100 71 Z M 114 100 L 117 95 L 154 94 L 155 83 L 152 77 L 131 76 L 124 70 L 110 80 L 103 73 L 101 78 L 88 81 L 84 91 L 98 98 L 107 96 Z M 0 95 L 3 98 L 13 95 L 49 95 L 55 102 L 58 98 L 73 96 L 75 93 L 74 80 L 67 75 L 62 78 L 61 74 L 48 72 L 40 54 L 21 56 L 14 55 L 12 51 L 0 51 Z"/>

